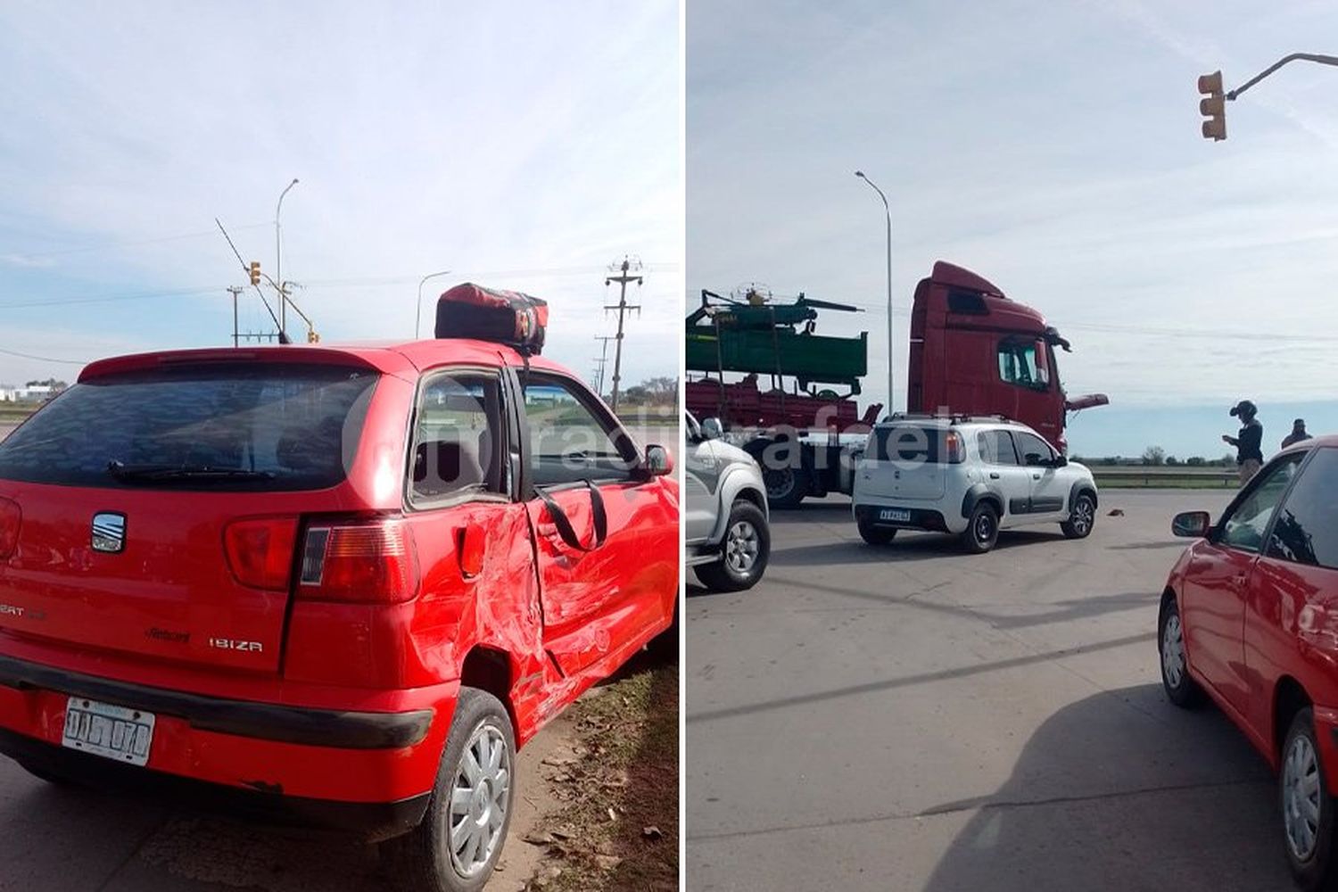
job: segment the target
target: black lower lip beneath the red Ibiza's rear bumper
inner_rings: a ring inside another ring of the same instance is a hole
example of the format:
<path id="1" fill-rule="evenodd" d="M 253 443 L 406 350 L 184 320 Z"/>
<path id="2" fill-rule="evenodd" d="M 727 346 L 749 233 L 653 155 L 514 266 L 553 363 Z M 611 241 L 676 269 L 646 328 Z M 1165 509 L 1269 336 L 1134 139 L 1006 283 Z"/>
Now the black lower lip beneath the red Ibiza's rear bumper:
<path id="1" fill-rule="evenodd" d="M 348 802 L 286 796 L 274 790 L 242 789 L 122 765 L 107 758 L 33 740 L 0 728 L 0 753 L 39 772 L 76 784 L 189 810 L 215 812 L 277 825 L 316 826 L 383 840 L 417 826 L 429 793 L 391 802 Z"/>

